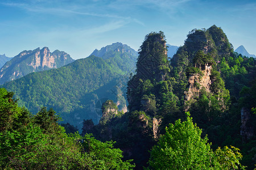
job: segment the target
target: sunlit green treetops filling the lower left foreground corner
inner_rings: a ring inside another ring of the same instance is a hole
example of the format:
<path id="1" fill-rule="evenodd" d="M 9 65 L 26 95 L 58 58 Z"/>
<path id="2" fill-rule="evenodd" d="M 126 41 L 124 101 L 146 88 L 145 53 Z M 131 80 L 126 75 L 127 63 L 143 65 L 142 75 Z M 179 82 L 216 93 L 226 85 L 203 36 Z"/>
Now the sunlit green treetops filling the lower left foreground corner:
<path id="1" fill-rule="evenodd" d="M 1 90 L 4 93 L 0 101 L 9 94 Z M 9 108 L 16 107 L 19 111 L 16 103 L 10 105 L 2 105 L 1 118 Z M 23 113 L 27 114 L 20 112 Z M 113 147 L 114 142 L 100 142 L 88 134 L 67 135 L 64 128 L 57 125 L 53 109 L 47 111 L 44 107 L 35 116 L 25 117 L 15 117 L 15 121 L 9 122 L 9 128 L 0 131 L 2 169 L 133 169 L 135 166 L 130 164 L 131 160 L 122 161 L 122 151 Z M 24 123 L 14 129 L 15 122 L 20 121 Z"/>

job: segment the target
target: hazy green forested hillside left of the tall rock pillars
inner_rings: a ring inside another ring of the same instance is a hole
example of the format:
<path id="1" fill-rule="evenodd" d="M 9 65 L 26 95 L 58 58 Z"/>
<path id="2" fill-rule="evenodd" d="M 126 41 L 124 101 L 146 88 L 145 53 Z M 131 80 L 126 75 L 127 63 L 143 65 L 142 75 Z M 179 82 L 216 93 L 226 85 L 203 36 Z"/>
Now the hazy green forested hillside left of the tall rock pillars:
<path id="1" fill-rule="evenodd" d="M 105 53 L 108 57 L 89 56 L 59 69 L 31 73 L 3 87 L 14 91 L 19 104 L 33 114 L 46 106 L 60 113 L 64 122 L 79 128 L 84 119 L 92 118 L 97 123 L 102 114 L 97 109 L 105 100 L 112 99 L 119 103 L 119 109 L 126 108 L 126 82 L 134 71 L 137 55 L 131 48 L 133 53 L 122 48 L 117 46 L 111 55 Z"/>

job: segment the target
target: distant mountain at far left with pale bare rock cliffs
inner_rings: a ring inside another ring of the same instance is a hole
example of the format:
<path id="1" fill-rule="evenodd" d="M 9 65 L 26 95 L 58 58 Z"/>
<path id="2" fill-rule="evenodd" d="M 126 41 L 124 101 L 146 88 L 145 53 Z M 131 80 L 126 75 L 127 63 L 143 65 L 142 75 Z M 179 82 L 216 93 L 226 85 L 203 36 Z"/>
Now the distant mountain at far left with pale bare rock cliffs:
<path id="1" fill-rule="evenodd" d="M 24 50 L 3 65 L 0 70 L 0 84 L 21 78 L 29 73 L 56 69 L 73 61 L 69 54 L 59 50 L 51 53 L 47 47 Z"/>

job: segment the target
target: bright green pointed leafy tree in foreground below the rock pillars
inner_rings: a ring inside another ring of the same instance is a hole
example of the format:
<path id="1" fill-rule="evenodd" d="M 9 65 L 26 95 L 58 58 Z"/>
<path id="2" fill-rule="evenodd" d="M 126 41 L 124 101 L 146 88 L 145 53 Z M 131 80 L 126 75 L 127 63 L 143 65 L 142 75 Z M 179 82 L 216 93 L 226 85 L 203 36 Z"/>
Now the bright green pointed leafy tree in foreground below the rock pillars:
<path id="1" fill-rule="evenodd" d="M 188 112 L 187 112 L 188 113 Z M 188 114 L 189 115 L 189 114 Z M 151 150 L 152 169 L 207 169 L 210 165 L 208 138 L 201 138 L 202 130 L 194 125 L 191 117 L 181 123 L 175 121 L 166 128 L 166 134 Z"/>

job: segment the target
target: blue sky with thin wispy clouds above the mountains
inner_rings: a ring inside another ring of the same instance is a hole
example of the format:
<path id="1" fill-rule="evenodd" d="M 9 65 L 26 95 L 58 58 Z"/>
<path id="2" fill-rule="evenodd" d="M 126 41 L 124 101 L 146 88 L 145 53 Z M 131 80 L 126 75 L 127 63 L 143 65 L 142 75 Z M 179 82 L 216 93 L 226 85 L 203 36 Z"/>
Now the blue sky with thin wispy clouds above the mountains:
<path id="1" fill-rule="evenodd" d="M 234 49 L 256 54 L 255 0 L 0 0 L 0 54 L 47 46 L 79 59 L 114 42 L 138 50 L 159 31 L 181 46 L 189 31 L 213 24 Z"/>

